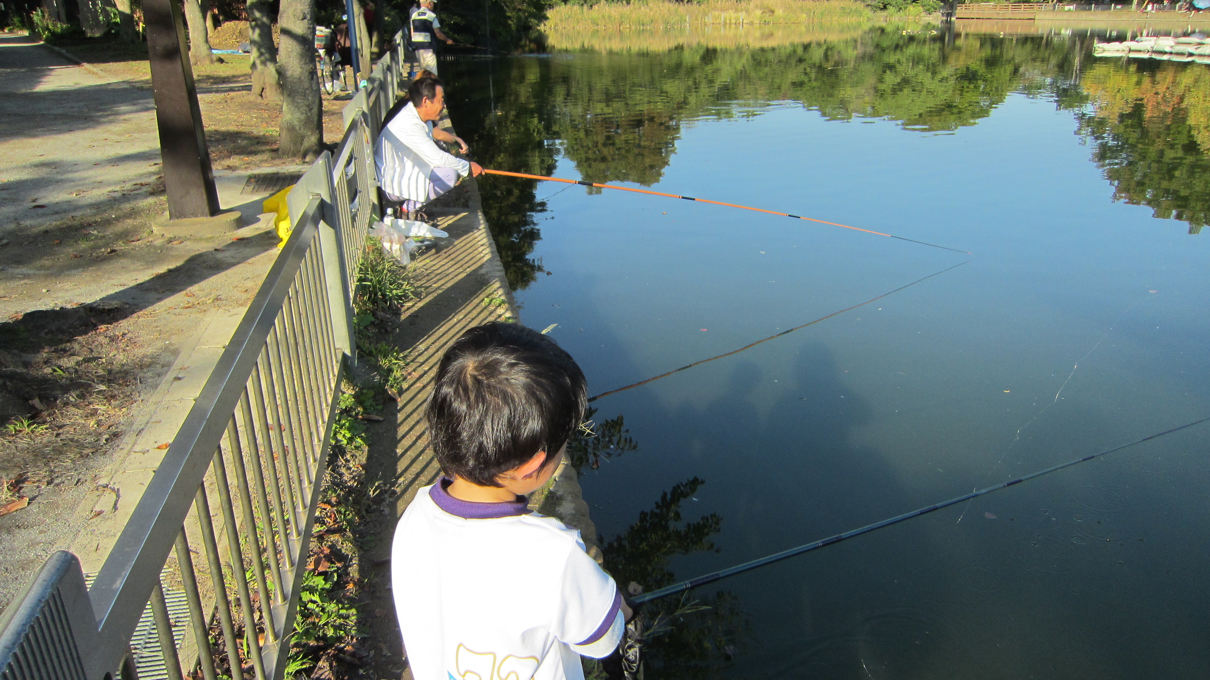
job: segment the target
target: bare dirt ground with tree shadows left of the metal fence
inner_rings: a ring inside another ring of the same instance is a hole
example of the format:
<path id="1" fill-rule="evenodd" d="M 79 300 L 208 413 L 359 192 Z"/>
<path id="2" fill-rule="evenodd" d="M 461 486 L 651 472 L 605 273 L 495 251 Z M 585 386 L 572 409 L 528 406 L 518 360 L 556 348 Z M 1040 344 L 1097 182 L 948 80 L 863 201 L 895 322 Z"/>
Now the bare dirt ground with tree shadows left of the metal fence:
<path id="1" fill-rule="evenodd" d="M 139 428 L 171 428 L 146 399 L 204 379 L 183 350 L 213 319 L 237 319 L 276 258 L 258 214 L 280 186 L 248 169 L 286 183 L 304 169 L 276 152 L 280 104 L 244 92 L 247 58 L 200 69 L 220 202 L 247 226 L 154 235 L 167 206 L 145 52 L 65 48 L 116 73 L 0 34 L 0 508 L 28 503 L 0 517 L 0 607 L 52 551 L 127 509 L 129 490 L 122 500 L 106 482 L 114 466 Z M 327 104 L 329 137 L 341 104 Z"/>

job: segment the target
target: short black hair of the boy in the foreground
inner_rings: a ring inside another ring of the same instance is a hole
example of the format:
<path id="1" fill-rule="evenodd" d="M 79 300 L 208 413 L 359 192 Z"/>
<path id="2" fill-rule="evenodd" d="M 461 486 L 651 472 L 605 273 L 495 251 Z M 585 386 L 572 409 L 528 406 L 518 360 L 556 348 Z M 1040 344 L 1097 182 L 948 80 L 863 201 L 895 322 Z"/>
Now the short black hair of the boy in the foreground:
<path id="1" fill-rule="evenodd" d="M 587 404 L 571 355 L 531 328 L 492 322 L 463 333 L 442 357 L 425 416 L 445 474 L 500 486 L 496 476 L 534 454 L 558 454 Z"/>

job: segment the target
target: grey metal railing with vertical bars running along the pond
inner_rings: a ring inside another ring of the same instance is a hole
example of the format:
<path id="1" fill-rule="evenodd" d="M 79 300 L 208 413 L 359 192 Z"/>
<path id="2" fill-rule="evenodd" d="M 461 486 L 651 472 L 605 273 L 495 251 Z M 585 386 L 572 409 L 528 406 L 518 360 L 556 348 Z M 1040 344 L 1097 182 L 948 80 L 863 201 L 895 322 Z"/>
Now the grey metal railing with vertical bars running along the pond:
<path id="1" fill-rule="evenodd" d="M 91 586 L 59 551 L 0 618 L 0 680 L 283 678 L 404 65 L 379 62 L 290 191 L 289 238 Z"/>

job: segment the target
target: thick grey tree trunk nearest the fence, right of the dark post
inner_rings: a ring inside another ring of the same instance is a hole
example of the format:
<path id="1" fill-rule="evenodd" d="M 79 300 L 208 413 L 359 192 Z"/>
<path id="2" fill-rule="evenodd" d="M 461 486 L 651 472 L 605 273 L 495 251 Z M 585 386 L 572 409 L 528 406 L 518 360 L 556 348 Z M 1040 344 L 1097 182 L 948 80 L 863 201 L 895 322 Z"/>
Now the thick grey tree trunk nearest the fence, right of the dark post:
<path id="1" fill-rule="evenodd" d="M 282 28 L 282 134 L 278 152 L 315 160 L 323 151 L 323 105 L 315 70 L 316 0 L 282 0 L 277 21 Z M 364 21 L 364 19 L 363 19 Z"/>

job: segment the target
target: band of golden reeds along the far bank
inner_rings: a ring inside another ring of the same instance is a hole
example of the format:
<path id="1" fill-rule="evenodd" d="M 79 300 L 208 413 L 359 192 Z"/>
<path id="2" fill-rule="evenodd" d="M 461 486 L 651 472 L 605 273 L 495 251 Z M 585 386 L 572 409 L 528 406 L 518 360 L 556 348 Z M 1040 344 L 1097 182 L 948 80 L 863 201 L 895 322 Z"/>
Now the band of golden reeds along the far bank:
<path id="1" fill-rule="evenodd" d="M 543 31 L 565 29 L 639 29 L 748 27 L 772 24 L 855 24 L 874 17 L 855 0 L 669 0 L 561 5 L 547 12 Z"/>

